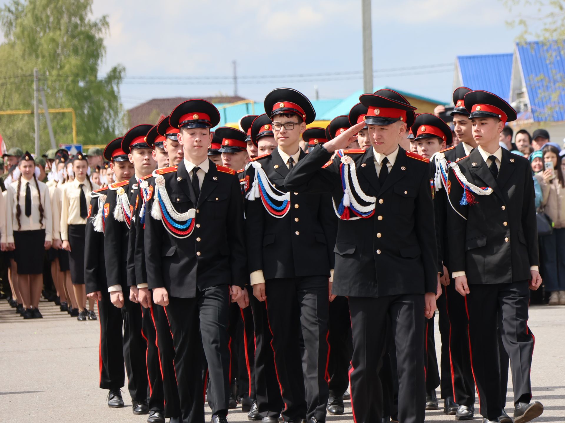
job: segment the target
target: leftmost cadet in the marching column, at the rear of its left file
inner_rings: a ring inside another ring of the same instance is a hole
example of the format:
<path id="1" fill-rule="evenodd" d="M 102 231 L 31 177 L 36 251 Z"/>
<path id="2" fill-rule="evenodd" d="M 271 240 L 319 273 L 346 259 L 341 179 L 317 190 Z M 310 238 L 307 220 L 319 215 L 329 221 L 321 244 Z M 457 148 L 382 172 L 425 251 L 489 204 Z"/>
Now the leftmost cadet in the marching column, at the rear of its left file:
<path id="1" fill-rule="evenodd" d="M 119 179 L 129 179 L 133 165 L 121 149 L 121 137 L 116 138 L 103 151 L 103 156 L 111 162 Z M 120 388 L 124 386 L 124 353 L 121 333 L 121 311 L 110 302 L 106 280 L 104 259 L 103 209 L 108 187 L 100 188 L 90 194 L 90 206 L 85 231 L 84 284 L 86 296 L 98 304 L 100 318 L 100 389 L 107 389 L 108 407 L 124 407 Z M 127 357 L 129 360 L 129 357 Z"/>

